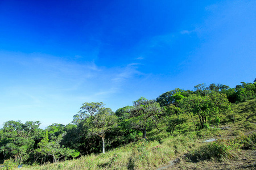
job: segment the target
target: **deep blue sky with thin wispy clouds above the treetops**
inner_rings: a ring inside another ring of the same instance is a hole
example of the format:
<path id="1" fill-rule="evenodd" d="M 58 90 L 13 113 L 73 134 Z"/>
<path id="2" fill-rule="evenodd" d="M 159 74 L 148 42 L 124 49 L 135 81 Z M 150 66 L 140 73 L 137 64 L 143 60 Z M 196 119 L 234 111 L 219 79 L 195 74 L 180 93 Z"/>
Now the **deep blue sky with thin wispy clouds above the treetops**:
<path id="1" fill-rule="evenodd" d="M 256 1 L 0 1 L 0 128 L 256 78 Z"/>

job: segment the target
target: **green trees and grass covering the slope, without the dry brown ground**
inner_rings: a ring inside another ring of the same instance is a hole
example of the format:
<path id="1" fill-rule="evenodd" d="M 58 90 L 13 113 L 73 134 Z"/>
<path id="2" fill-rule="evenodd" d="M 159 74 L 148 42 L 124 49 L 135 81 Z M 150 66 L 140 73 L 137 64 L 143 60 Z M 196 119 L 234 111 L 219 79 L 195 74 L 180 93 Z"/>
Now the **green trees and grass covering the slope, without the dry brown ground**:
<path id="1" fill-rule="evenodd" d="M 199 84 L 156 100 L 141 97 L 116 112 L 84 103 L 71 124 L 45 130 L 39 121 L 8 121 L 0 129 L 0 163 L 2 169 L 155 169 L 179 158 L 189 169 L 193 162 L 237 159 L 256 149 L 255 96 L 256 83 Z M 209 138 L 218 139 L 203 142 Z"/>

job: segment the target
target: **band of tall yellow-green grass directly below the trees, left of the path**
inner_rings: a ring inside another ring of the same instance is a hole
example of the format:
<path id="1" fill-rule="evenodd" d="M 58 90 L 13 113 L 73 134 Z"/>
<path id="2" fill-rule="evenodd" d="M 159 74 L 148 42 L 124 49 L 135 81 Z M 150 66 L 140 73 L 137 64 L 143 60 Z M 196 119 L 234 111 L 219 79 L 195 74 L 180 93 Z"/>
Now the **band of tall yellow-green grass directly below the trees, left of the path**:
<path id="1" fill-rule="evenodd" d="M 160 140 L 144 140 L 115 148 L 105 154 L 91 154 L 79 159 L 67 160 L 42 166 L 28 166 L 23 169 L 155 169 L 171 159 L 204 145 L 202 134 L 211 136 L 216 129 L 201 130 L 170 136 Z"/>

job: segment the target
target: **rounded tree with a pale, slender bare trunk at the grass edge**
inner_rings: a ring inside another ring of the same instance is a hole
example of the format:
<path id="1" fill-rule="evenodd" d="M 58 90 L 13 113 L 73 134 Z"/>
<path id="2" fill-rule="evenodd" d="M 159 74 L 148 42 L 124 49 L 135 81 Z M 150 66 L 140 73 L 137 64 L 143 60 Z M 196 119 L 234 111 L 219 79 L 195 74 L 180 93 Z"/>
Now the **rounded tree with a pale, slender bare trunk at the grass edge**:
<path id="1" fill-rule="evenodd" d="M 77 125 L 79 130 L 80 149 L 83 152 L 97 151 L 97 146 L 92 146 L 92 143 L 97 143 L 94 138 L 98 135 L 102 139 L 102 152 L 105 152 L 105 135 L 117 125 L 117 117 L 110 108 L 105 108 L 104 103 L 84 103 L 80 108 L 79 114 L 76 114 L 73 123 Z M 84 141 L 84 142 L 82 142 Z"/>

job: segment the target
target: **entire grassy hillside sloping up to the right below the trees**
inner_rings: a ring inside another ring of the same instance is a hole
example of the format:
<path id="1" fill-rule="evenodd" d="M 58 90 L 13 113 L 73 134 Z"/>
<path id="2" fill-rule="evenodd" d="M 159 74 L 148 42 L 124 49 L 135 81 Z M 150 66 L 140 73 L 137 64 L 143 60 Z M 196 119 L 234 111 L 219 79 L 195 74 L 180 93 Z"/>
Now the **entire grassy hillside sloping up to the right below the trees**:
<path id="1" fill-rule="evenodd" d="M 23 169 L 254 169 L 256 99 L 232 108 L 233 114 L 222 117 L 218 127 L 182 132 L 180 126 L 172 136 L 153 130 L 147 141 L 141 139 L 105 154 Z M 235 122 L 228 121 L 230 116 Z M 212 138 L 217 141 L 204 142 Z"/>

